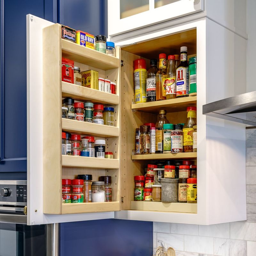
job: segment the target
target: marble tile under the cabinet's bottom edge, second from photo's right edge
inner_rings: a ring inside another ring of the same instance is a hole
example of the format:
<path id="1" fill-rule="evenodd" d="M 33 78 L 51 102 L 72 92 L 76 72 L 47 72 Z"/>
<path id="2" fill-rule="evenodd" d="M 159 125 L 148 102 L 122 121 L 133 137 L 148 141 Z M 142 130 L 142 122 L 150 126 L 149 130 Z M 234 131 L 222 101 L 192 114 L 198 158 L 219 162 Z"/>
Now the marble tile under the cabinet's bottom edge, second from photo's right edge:
<path id="1" fill-rule="evenodd" d="M 229 223 L 199 225 L 199 236 L 229 238 Z"/>

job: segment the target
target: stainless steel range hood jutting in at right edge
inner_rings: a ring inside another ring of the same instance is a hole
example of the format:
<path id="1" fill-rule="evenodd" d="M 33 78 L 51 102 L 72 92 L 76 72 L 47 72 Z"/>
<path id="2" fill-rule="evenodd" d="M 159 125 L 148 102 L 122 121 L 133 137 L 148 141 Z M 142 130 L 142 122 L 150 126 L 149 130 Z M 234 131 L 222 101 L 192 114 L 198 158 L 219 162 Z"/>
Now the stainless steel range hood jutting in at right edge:
<path id="1" fill-rule="evenodd" d="M 203 114 L 256 126 L 256 91 L 205 104 Z"/>

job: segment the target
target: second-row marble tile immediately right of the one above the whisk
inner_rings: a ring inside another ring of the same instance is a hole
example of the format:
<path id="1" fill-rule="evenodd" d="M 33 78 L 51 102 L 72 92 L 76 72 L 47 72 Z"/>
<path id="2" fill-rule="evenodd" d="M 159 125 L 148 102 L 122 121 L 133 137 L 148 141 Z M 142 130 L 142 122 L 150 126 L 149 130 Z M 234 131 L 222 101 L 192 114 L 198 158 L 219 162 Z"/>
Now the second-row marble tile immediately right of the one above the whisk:
<path id="1" fill-rule="evenodd" d="M 213 254 L 213 237 L 185 235 L 184 251 Z"/>

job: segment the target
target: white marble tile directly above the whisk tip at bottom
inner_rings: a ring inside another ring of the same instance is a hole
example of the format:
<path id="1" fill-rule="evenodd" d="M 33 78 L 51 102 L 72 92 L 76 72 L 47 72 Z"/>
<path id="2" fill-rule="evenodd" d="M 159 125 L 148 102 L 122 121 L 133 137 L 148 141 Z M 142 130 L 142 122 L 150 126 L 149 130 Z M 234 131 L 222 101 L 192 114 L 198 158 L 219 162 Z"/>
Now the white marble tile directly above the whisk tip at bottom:
<path id="1" fill-rule="evenodd" d="M 158 246 L 164 246 L 166 249 L 172 247 L 174 250 L 184 251 L 184 236 L 157 232 Z"/>

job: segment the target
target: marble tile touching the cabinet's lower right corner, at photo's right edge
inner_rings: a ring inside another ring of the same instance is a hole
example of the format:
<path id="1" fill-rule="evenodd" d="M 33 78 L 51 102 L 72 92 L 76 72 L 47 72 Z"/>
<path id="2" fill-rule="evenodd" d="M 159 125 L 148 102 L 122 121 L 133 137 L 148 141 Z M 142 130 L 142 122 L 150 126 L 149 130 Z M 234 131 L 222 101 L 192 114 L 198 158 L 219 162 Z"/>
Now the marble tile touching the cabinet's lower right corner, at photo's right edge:
<path id="1" fill-rule="evenodd" d="M 256 222 L 246 222 L 246 221 L 231 222 L 230 238 L 256 241 Z"/>

